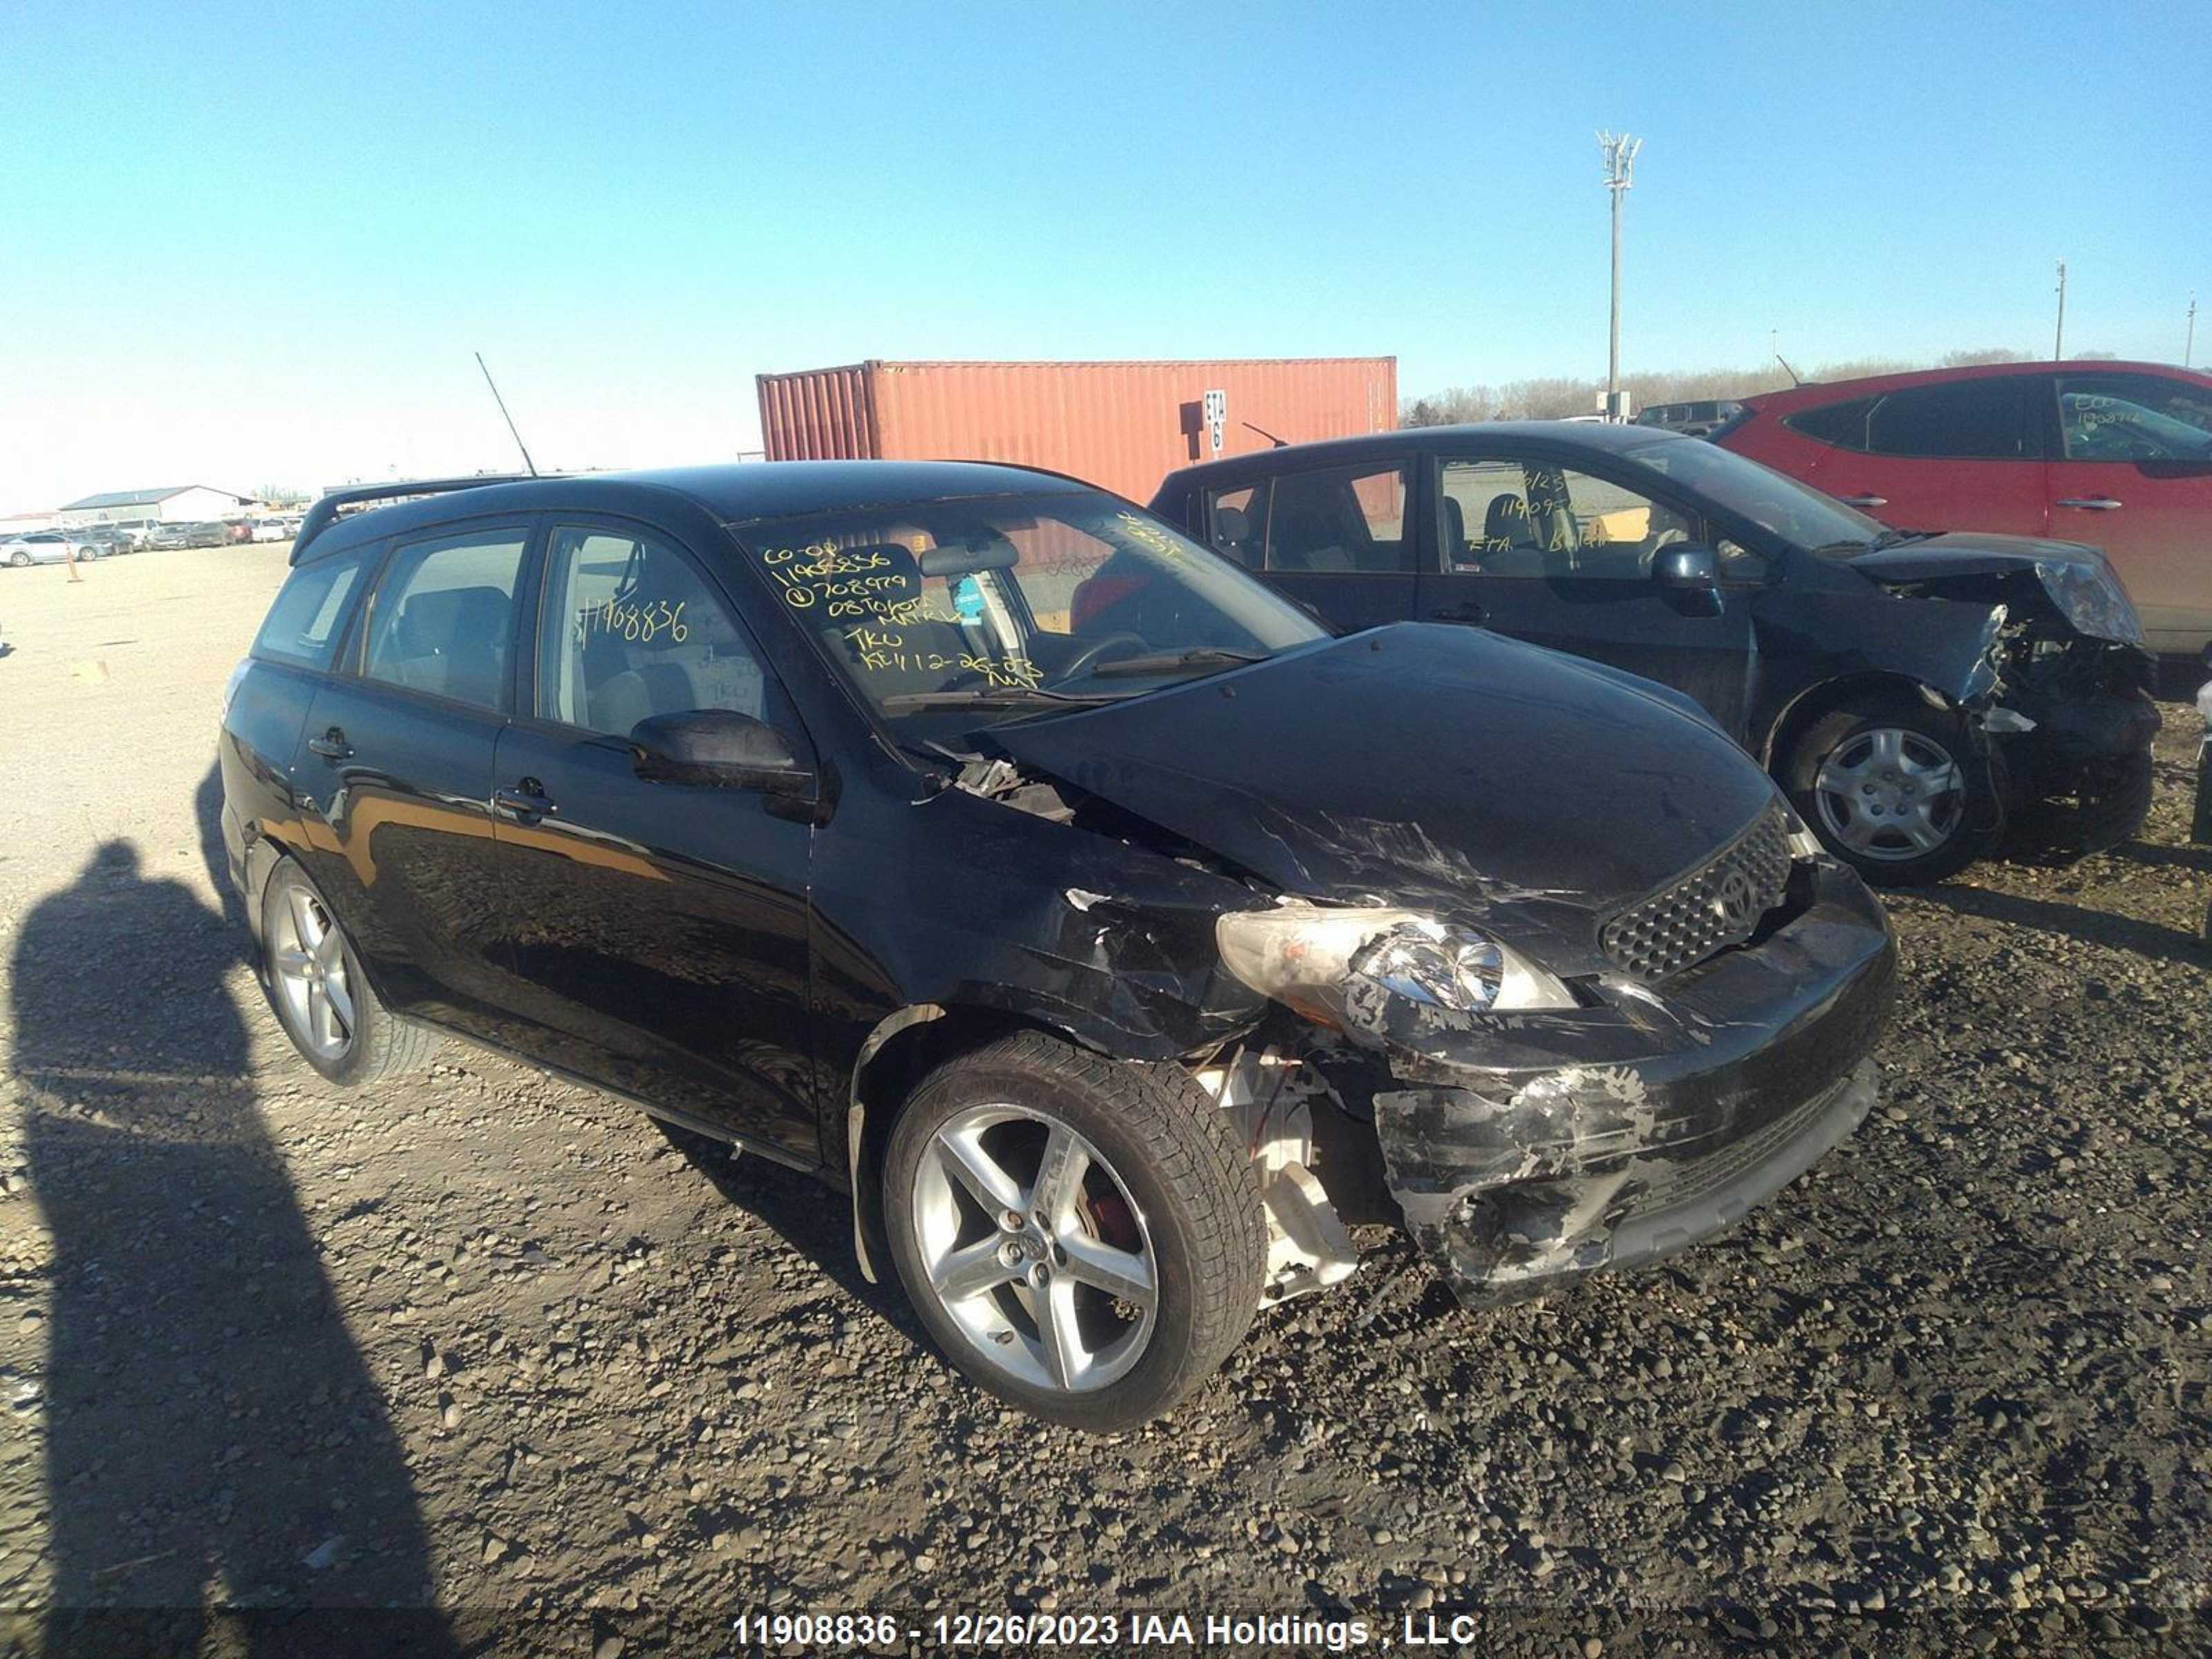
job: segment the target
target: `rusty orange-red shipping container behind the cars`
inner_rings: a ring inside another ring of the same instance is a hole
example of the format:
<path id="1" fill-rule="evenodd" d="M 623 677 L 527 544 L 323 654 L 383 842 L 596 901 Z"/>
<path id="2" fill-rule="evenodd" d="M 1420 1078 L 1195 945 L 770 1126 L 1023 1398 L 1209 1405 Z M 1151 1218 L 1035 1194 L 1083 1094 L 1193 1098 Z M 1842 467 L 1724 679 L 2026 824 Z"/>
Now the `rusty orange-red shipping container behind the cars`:
<path id="1" fill-rule="evenodd" d="M 854 363 L 763 374 L 770 460 L 1018 460 L 1137 500 L 1194 460 L 1398 425 L 1398 358 Z M 1221 447 L 1208 420 L 1221 400 Z"/>

